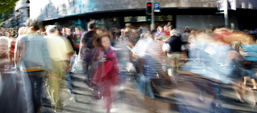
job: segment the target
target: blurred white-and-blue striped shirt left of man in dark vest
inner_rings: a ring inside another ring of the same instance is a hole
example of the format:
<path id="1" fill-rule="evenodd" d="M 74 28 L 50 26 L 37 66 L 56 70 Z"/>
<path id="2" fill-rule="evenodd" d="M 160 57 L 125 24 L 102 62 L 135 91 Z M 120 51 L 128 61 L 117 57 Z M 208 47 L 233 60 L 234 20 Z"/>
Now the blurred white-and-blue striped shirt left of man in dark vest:
<path id="1" fill-rule="evenodd" d="M 153 40 L 153 39 L 140 39 L 132 52 L 139 54 L 141 58 L 146 59 L 144 65 L 144 74 L 146 77 L 151 79 L 158 79 L 162 75 L 166 74 L 162 69 L 162 64 L 167 60 L 167 56 L 162 50 L 164 44 L 163 40 Z"/>

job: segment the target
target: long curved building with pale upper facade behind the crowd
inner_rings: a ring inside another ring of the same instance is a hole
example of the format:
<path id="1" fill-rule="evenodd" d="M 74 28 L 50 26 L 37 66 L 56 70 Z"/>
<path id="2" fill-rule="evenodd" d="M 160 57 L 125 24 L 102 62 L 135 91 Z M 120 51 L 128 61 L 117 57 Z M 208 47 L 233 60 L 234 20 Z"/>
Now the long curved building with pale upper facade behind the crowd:
<path id="1" fill-rule="evenodd" d="M 98 27 L 150 26 L 145 14 L 150 0 L 30 0 L 30 18 L 45 24 L 81 26 L 94 20 Z M 171 22 L 180 28 L 214 28 L 224 26 L 224 14 L 217 10 L 217 0 L 154 0 L 161 4 L 155 12 L 155 26 Z M 256 0 L 237 0 L 236 10 L 229 10 L 229 27 L 235 29 L 255 27 L 253 14 Z M 250 21 L 249 21 L 250 19 Z M 249 24 L 251 23 L 251 24 Z"/>

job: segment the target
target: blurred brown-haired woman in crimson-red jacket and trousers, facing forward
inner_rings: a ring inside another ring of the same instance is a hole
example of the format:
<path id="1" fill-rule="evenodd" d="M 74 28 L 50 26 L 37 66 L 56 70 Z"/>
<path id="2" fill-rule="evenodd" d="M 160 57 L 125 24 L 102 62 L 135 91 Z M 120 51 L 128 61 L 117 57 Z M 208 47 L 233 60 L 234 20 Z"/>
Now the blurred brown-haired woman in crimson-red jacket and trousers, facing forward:
<path id="1" fill-rule="evenodd" d="M 95 60 L 98 68 L 92 77 L 93 84 L 99 85 L 99 92 L 105 98 L 107 112 L 110 112 L 112 95 L 110 87 L 116 85 L 120 69 L 117 63 L 116 50 L 111 46 L 109 34 L 99 35 L 93 42 L 96 47 Z"/>

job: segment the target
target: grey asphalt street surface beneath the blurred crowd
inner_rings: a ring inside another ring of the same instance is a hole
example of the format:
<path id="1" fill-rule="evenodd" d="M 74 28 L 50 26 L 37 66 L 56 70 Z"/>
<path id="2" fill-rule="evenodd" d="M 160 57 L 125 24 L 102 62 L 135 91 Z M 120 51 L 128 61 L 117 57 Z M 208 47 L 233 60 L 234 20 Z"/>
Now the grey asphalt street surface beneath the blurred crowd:
<path id="1" fill-rule="evenodd" d="M 180 62 L 182 65 L 182 62 Z M 15 73 L 14 66 L 11 69 L 6 67 L 6 73 Z M 143 94 L 134 86 L 134 81 L 130 73 L 127 73 L 127 80 L 123 86 L 112 88 L 113 91 L 113 104 L 111 112 L 113 113 L 223 113 L 223 112 L 257 112 L 257 107 L 251 106 L 251 98 L 249 98 L 249 91 L 246 90 L 244 97 L 245 103 L 236 102 L 237 99 L 233 86 L 231 84 L 221 84 L 211 79 L 206 79 L 196 74 L 187 71 L 179 70 L 178 85 L 173 86 L 169 80 L 160 79 L 157 84 L 153 85 L 155 99 L 146 99 Z M 65 74 L 65 73 L 64 73 Z M 104 113 L 104 98 L 96 99 L 93 91 L 89 89 L 84 82 L 82 74 L 72 74 L 72 84 L 74 88 L 74 95 L 68 93 L 67 81 L 64 78 L 61 80 L 60 88 L 60 102 L 62 112 L 67 113 Z M 45 84 L 45 83 L 42 83 Z M 202 89 L 201 87 L 204 87 Z M 251 83 L 247 83 L 246 89 L 252 87 Z M 221 96 L 217 98 L 217 89 L 220 88 Z M 43 111 L 54 112 L 54 107 L 47 99 L 48 94 L 43 89 Z M 200 90 L 201 89 L 201 90 Z M 200 100 L 200 93 L 204 96 L 204 100 Z M 257 91 L 253 91 L 255 100 L 257 100 Z M 75 101 L 70 98 L 75 97 Z M 222 104 L 221 104 L 222 101 Z M 219 107 L 215 107 L 216 104 Z"/>

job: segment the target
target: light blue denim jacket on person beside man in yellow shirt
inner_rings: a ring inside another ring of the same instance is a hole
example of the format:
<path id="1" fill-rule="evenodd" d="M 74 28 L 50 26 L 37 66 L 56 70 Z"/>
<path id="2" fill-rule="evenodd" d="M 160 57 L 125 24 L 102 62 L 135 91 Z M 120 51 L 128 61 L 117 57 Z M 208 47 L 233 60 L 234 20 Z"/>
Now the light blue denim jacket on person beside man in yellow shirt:
<path id="1" fill-rule="evenodd" d="M 36 32 L 20 36 L 15 44 L 15 66 L 18 70 L 52 68 L 47 41 Z"/>

